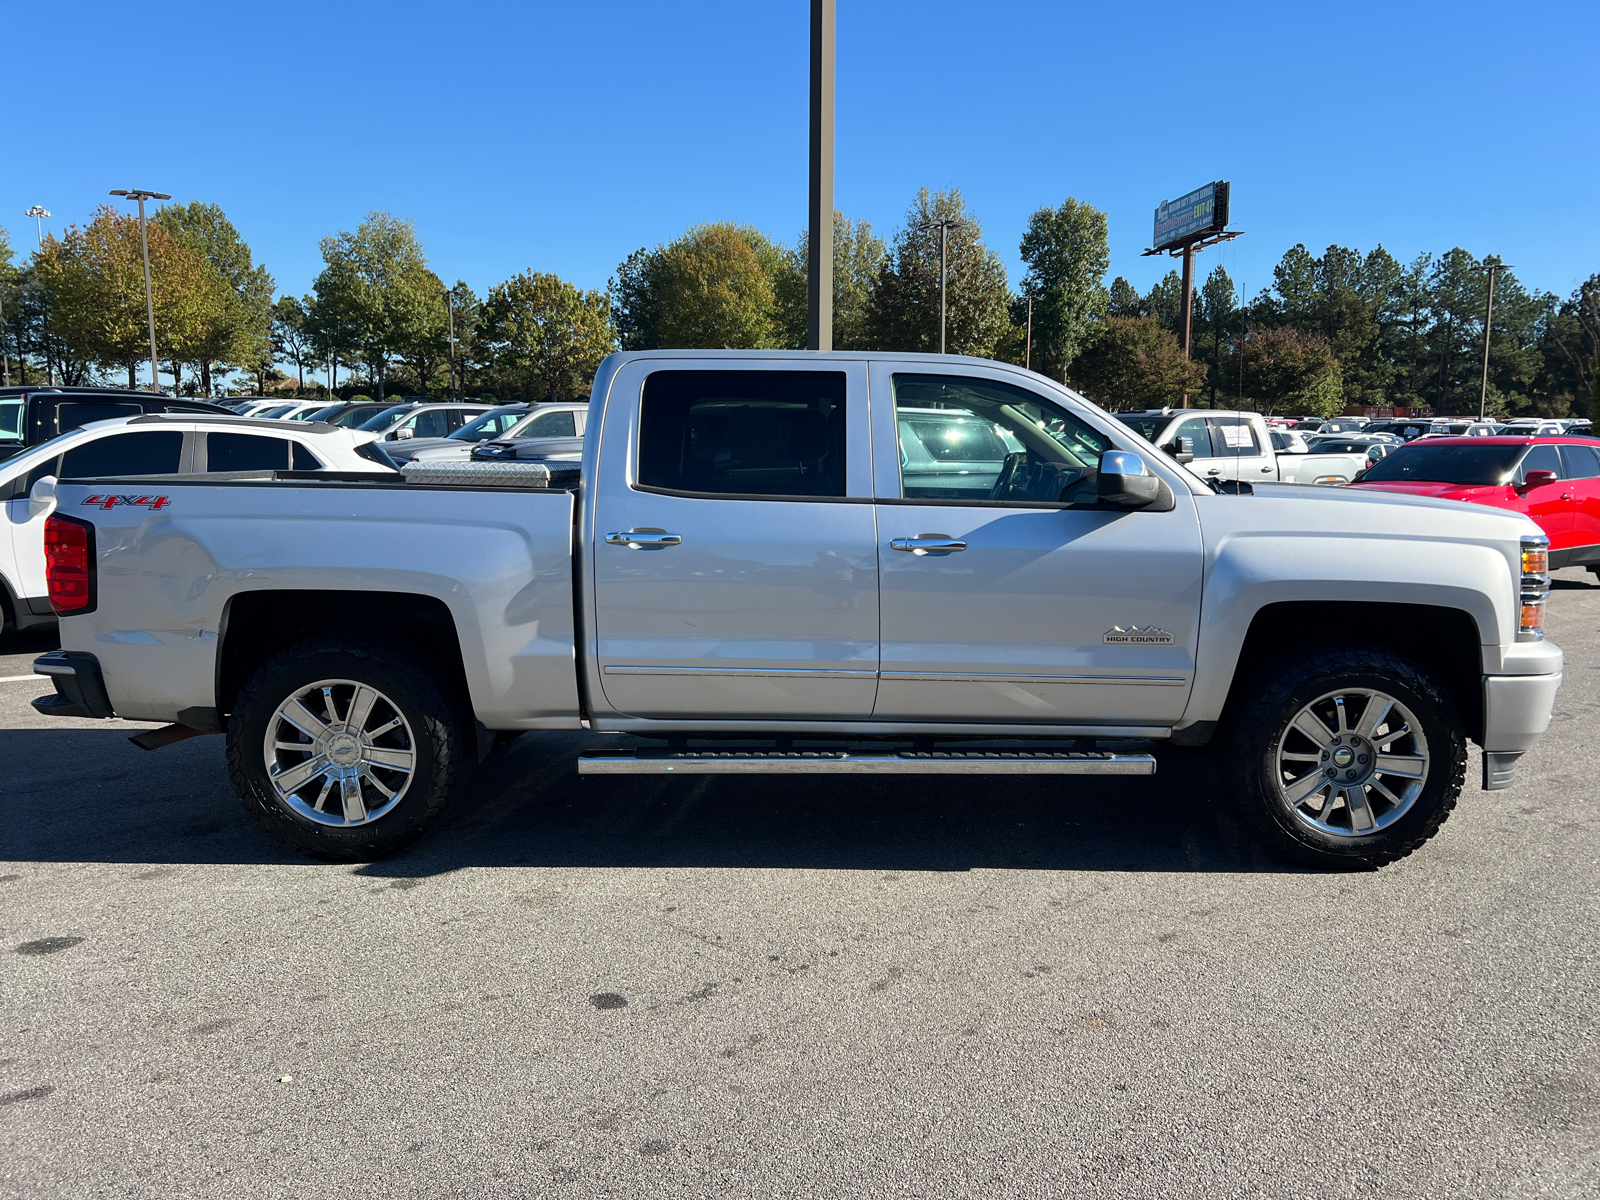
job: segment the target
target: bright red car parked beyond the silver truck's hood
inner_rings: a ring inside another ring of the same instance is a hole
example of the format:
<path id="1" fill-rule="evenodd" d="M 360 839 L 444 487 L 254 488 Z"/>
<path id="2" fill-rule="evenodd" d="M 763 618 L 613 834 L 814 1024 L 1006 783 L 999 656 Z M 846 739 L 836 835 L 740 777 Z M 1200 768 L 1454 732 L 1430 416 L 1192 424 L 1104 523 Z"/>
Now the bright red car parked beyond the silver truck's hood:
<path id="1" fill-rule="evenodd" d="M 1378 459 L 1349 486 L 1525 512 L 1550 539 L 1550 570 L 1600 574 L 1600 438 L 1429 437 Z"/>

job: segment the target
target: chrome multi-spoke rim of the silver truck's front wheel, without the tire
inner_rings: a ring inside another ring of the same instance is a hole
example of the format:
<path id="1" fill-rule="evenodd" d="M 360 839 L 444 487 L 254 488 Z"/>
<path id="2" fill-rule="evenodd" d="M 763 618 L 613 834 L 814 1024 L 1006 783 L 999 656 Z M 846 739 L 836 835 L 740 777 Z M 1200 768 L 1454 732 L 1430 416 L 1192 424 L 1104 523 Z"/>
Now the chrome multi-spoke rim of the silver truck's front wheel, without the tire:
<path id="1" fill-rule="evenodd" d="M 1381 691 L 1330 691 L 1278 738 L 1280 798 L 1298 821 L 1333 837 L 1392 826 L 1416 803 L 1427 768 L 1421 722 Z"/>

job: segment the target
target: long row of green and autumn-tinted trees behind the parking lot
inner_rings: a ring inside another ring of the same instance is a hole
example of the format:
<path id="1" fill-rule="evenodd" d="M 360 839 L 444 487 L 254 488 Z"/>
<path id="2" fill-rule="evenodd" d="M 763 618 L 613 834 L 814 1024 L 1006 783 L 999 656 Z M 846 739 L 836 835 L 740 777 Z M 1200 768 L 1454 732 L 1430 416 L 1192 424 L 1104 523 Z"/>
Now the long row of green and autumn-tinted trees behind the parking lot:
<path id="1" fill-rule="evenodd" d="M 1346 406 L 1475 413 L 1488 266 L 1454 248 L 1402 264 L 1304 245 L 1272 286 L 1245 298 L 1218 266 L 1195 288 L 1192 350 L 1179 349 L 1182 283 L 1147 293 L 1109 285 L 1107 218 L 1067 198 L 1030 214 L 1016 290 L 958 189 L 922 189 L 880 237 L 835 213 L 834 346 L 939 347 L 939 235 L 947 242 L 947 347 L 1022 363 L 1107 408 L 1192 403 L 1331 414 Z M 614 349 L 798 349 L 806 333 L 806 235 L 699 224 L 642 246 L 608 286 L 584 290 L 522 272 L 478 296 L 429 266 L 413 224 L 371 213 L 322 240 L 304 296 L 278 294 L 216 205 L 163 205 L 149 227 L 157 355 L 181 390 L 211 395 L 222 374 L 253 390 L 360 389 L 574 398 Z M 0 230 L 0 349 L 19 382 L 120 378 L 149 355 L 138 222 L 101 208 L 50 235 L 26 262 Z M 1600 371 L 1600 274 L 1570 296 L 1494 283 L 1488 408 L 1493 414 L 1589 414 Z"/>

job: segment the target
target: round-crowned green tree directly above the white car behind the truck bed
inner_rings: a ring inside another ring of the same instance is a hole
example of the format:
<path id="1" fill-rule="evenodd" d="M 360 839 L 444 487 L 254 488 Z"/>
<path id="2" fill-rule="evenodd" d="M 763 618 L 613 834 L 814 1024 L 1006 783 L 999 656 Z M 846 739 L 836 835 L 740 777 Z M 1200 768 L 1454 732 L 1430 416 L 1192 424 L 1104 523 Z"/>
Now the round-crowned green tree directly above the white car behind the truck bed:
<path id="1" fill-rule="evenodd" d="M 322 261 L 312 283 L 314 323 L 334 354 L 362 360 L 382 400 L 394 360 L 424 362 L 424 346 L 437 341 L 443 286 L 427 269 L 416 227 L 389 213 L 368 213 L 355 232 L 325 237 Z"/>

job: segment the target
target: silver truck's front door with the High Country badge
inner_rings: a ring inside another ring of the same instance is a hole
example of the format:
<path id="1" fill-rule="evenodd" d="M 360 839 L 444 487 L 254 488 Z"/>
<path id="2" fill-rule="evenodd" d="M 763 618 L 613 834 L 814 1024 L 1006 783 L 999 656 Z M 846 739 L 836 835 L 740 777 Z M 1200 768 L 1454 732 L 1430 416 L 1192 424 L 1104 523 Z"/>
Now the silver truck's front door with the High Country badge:
<path id="1" fill-rule="evenodd" d="M 883 613 L 872 715 L 1170 725 L 1195 669 L 1194 498 L 1179 486 L 1168 512 L 1101 507 L 1094 475 L 1114 437 L 1010 379 L 872 366 Z M 928 466 L 941 461 L 942 475 Z"/>

